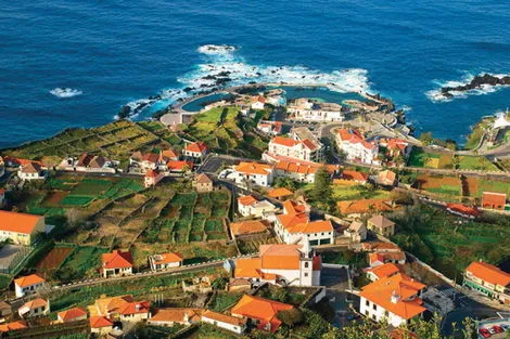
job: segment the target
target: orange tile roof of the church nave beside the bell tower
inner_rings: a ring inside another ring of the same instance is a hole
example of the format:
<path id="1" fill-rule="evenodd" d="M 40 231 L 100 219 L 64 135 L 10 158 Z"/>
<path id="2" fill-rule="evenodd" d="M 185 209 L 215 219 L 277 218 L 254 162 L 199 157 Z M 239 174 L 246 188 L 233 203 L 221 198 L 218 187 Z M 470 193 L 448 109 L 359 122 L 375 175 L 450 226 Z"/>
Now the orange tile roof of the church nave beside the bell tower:
<path id="1" fill-rule="evenodd" d="M 298 270 L 301 245 L 260 245 L 262 268 L 269 270 Z"/>

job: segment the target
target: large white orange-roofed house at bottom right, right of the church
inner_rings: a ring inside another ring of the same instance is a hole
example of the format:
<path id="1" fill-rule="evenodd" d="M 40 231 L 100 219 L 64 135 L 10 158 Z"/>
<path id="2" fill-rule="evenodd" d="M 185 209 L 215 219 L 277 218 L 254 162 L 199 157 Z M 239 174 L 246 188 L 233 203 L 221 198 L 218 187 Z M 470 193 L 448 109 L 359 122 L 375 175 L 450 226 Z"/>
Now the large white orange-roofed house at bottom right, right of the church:
<path id="1" fill-rule="evenodd" d="M 406 325 L 426 311 L 420 299 L 425 287 L 403 273 L 382 277 L 361 288 L 359 313 L 394 327 Z"/>

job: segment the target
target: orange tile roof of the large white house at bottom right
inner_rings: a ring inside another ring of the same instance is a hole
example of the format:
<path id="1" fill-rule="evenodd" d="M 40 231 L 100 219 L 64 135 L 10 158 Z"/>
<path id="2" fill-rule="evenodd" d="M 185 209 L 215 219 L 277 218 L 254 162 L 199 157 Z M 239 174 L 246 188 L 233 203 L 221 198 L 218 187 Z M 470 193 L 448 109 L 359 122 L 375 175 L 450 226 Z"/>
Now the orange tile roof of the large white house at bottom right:
<path id="1" fill-rule="evenodd" d="M 359 296 L 401 318 L 409 320 L 426 311 L 421 299 L 417 298 L 419 291 L 425 287 L 422 283 L 397 273 L 362 287 Z"/>

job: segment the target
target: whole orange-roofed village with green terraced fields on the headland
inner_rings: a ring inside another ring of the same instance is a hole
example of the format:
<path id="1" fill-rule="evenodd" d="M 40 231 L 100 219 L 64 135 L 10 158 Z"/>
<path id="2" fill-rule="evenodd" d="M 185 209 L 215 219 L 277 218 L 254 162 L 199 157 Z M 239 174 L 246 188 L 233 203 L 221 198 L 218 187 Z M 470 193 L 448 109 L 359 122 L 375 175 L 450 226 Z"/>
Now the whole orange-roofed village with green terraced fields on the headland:
<path id="1" fill-rule="evenodd" d="M 321 91 L 222 90 L 0 151 L 0 333 L 426 338 L 467 322 L 506 338 L 494 135 L 510 122 L 460 149 L 415 138 L 384 97 Z"/>

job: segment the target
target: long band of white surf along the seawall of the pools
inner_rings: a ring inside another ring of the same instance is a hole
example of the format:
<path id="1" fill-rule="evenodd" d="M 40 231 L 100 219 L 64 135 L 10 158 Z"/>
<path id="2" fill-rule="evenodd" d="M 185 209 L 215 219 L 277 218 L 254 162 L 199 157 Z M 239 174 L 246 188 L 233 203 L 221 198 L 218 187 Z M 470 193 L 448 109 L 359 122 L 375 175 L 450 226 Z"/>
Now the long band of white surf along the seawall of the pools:
<path id="1" fill-rule="evenodd" d="M 179 89 L 162 91 L 160 99 L 141 99 L 128 103 L 133 113 L 139 113 L 157 101 L 175 102 L 202 91 L 224 87 L 245 84 L 251 81 L 260 83 L 326 86 L 336 92 L 369 92 L 368 71 L 360 68 L 323 73 L 305 66 L 251 65 L 234 53 L 237 49 L 226 44 L 206 44 L 197 49 L 205 54 L 204 63 L 177 80 Z M 188 89 L 184 91 L 184 89 Z"/>

